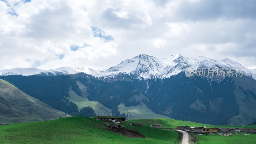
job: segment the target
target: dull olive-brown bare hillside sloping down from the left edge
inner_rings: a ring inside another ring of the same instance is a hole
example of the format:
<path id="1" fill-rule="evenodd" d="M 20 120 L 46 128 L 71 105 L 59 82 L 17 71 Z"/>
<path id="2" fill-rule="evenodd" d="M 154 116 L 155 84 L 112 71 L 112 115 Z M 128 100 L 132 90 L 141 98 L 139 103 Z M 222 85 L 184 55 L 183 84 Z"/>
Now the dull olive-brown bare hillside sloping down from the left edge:
<path id="1" fill-rule="evenodd" d="M 0 79 L 0 123 L 45 121 L 65 116 L 45 103 Z"/>

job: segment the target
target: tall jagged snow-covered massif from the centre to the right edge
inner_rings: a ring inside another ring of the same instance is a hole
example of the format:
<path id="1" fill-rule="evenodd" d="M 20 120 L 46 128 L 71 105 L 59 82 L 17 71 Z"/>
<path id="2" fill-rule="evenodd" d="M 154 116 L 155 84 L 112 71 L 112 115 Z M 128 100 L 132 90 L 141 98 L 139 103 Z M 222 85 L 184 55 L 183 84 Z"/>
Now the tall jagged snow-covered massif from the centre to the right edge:
<path id="1" fill-rule="evenodd" d="M 233 68 L 234 70 L 243 69 L 243 75 L 256 80 L 256 69 L 245 68 L 233 60 L 213 60 L 202 56 L 193 59 L 185 58 L 180 54 L 175 54 L 164 59 L 142 54 L 132 59 L 124 60 L 108 70 L 92 75 L 104 78 L 115 78 L 121 75 L 130 75 L 132 78 L 138 79 L 167 78 L 179 74 L 187 67 L 193 68 L 194 70 L 198 68 L 213 68 L 215 71 L 219 68 L 226 70 L 228 68 Z"/>

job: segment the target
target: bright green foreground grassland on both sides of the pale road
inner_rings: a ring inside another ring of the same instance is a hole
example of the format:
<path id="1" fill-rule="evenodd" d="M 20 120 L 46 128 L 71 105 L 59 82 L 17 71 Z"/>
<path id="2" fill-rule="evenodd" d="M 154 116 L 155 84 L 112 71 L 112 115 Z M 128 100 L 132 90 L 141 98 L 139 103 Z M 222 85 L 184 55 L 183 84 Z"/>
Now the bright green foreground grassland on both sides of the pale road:
<path id="1" fill-rule="evenodd" d="M 135 126 L 130 122 L 138 123 Z M 0 126 L 1 143 L 174 143 L 178 132 L 150 127 L 159 123 L 162 127 L 176 128 L 179 125 L 209 126 L 173 119 L 128 120 L 124 129 L 106 127 L 104 122 L 89 117 L 73 116 L 43 122 L 30 122 Z M 142 124 L 144 126 L 141 126 Z M 228 126 L 220 126 L 228 127 Z M 230 127 L 230 126 L 229 126 Z M 238 126 L 236 126 L 238 127 Z M 245 126 L 241 126 L 245 127 Z M 250 127 L 256 127 L 251 125 Z M 256 134 L 220 136 L 196 134 L 199 143 L 254 143 Z"/>

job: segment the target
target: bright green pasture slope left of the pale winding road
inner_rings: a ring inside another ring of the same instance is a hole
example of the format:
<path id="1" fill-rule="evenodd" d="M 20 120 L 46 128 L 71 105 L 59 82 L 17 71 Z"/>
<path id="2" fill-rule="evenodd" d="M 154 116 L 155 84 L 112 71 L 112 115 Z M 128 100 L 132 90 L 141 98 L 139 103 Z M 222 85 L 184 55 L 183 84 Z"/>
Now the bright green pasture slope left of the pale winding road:
<path id="1" fill-rule="evenodd" d="M 124 125 L 124 124 L 123 124 Z M 87 117 L 0 126 L 0 143 L 173 143 L 178 132 L 124 125 L 147 138 L 128 138 Z M 147 142 L 146 142 L 147 141 Z"/>

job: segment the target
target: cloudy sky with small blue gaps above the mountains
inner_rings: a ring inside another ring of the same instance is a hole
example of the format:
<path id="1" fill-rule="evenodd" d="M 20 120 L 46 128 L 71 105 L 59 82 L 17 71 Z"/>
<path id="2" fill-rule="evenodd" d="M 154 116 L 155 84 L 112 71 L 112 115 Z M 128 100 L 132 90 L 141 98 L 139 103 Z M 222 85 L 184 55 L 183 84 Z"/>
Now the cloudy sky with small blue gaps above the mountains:
<path id="1" fill-rule="evenodd" d="M 0 69 L 106 69 L 139 54 L 256 68 L 251 0 L 0 0 Z"/>

